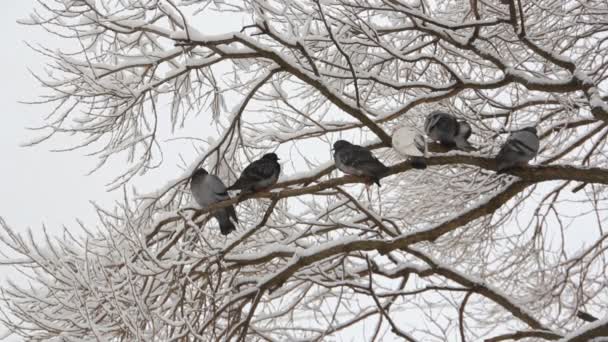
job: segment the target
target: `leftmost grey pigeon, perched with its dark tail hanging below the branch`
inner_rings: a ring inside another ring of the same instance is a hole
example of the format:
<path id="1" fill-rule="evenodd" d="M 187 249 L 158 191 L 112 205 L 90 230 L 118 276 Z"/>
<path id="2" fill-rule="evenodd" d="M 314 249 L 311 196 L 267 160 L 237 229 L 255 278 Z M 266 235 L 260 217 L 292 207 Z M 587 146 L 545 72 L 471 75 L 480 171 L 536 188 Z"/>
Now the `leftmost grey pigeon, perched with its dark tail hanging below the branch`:
<path id="1" fill-rule="evenodd" d="M 192 173 L 190 192 L 192 192 L 196 203 L 202 208 L 207 208 L 214 203 L 230 199 L 224 183 L 216 176 L 207 173 L 203 168 L 197 169 Z M 212 215 L 220 224 L 220 231 L 223 235 L 228 235 L 235 230 L 234 223 L 232 223 L 230 218 L 234 222 L 238 222 L 238 219 L 232 205 L 214 210 Z"/>

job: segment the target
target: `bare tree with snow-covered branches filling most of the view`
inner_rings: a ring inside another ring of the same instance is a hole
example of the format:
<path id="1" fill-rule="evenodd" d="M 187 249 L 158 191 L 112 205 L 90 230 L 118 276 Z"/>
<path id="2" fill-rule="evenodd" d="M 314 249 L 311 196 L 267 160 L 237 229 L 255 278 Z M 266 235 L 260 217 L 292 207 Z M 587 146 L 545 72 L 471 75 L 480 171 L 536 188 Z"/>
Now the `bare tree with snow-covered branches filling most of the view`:
<path id="1" fill-rule="evenodd" d="M 199 29 L 226 12 L 240 31 Z M 36 48 L 56 106 L 37 142 L 77 134 L 100 167 L 126 156 L 126 189 L 162 163 L 159 127 L 201 113 L 219 133 L 158 191 L 99 208 L 85 237 L 0 221 L 30 280 L 3 289 L 5 325 L 56 341 L 607 336 L 606 16 L 599 0 L 39 1 L 24 24 L 76 50 Z M 480 149 L 413 170 L 391 133 L 437 108 Z M 534 165 L 497 175 L 527 125 Z M 335 171 L 339 137 L 391 165 L 381 188 Z M 275 150 L 271 191 L 192 208 L 195 168 L 234 181 Z M 230 204 L 225 239 L 207 213 Z"/>

